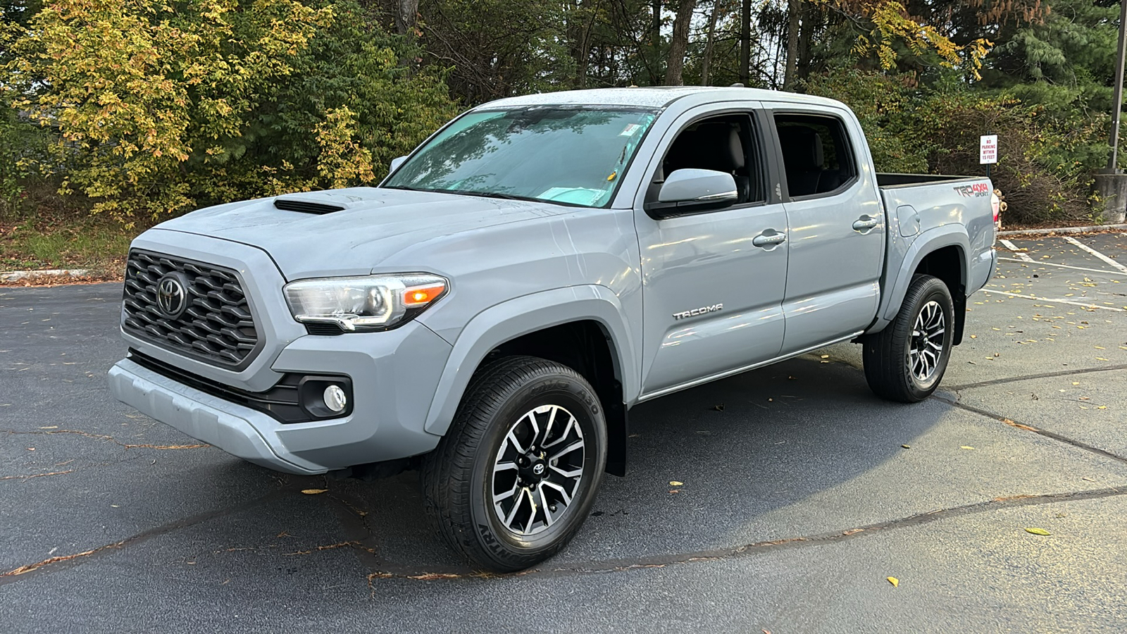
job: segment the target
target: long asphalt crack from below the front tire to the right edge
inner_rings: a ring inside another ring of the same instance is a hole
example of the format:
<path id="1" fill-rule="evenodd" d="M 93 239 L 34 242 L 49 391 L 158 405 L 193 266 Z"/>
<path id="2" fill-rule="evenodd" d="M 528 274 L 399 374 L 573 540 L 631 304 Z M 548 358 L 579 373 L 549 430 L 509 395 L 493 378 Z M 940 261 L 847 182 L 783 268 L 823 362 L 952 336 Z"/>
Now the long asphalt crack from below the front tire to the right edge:
<path id="1" fill-rule="evenodd" d="M 678 553 L 672 555 L 653 555 L 653 556 L 632 557 L 625 560 L 603 560 L 598 562 L 577 563 L 552 569 L 547 569 L 547 567 L 531 569 L 508 574 L 495 574 L 495 573 L 479 572 L 479 571 L 446 572 L 442 571 L 441 569 L 434 569 L 432 571 L 385 569 L 369 574 L 367 582 L 369 587 L 372 588 L 372 590 L 374 591 L 375 590 L 374 583 L 376 580 L 380 579 L 435 581 L 444 579 L 454 580 L 454 579 L 505 579 L 505 578 L 517 578 L 517 576 L 553 576 L 564 574 L 612 573 L 612 572 L 624 572 L 638 569 L 665 567 L 668 565 L 676 565 L 676 564 L 717 562 L 717 561 L 749 556 L 758 553 L 778 551 L 783 548 L 800 548 L 806 546 L 836 544 L 840 541 L 845 541 L 848 539 L 855 539 L 869 535 L 876 535 L 881 531 L 911 528 L 942 519 L 953 519 L 969 514 L 995 511 L 999 509 L 1008 509 L 1013 507 L 1030 507 L 1038 504 L 1054 504 L 1058 502 L 1073 502 L 1081 500 L 1098 500 L 1101 497 L 1111 497 L 1124 494 L 1127 494 L 1127 488 L 1110 486 L 1106 488 L 1094 488 L 1094 490 L 1064 492 L 1064 493 L 1013 495 L 1005 497 L 995 497 L 993 500 L 976 502 L 973 504 L 965 504 L 961 507 L 937 509 L 933 511 L 916 513 L 905 518 L 859 526 L 845 530 L 819 532 L 814 535 L 805 535 L 805 536 L 790 537 L 783 539 L 771 539 L 766 541 L 755 541 L 742 546 L 728 546 L 724 548 L 693 551 L 693 552 Z"/>

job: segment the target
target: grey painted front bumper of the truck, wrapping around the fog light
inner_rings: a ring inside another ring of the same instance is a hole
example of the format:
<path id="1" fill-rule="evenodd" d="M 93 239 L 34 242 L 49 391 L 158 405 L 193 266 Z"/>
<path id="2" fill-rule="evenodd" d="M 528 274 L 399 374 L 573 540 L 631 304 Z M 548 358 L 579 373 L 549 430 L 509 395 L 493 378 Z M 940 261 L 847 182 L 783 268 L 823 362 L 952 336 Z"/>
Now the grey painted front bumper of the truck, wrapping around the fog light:
<path id="1" fill-rule="evenodd" d="M 228 454 L 279 472 L 321 474 L 434 449 L 440 437 L 424 424 L 450 350 L 417 323 L 384 333 L 296 338 L 274 361 L 275 372 L 353 380 L 349 416 L 304 423 L 281 423 L 128 359 L 109 370 L 109 387 L 118 400 Z"/>

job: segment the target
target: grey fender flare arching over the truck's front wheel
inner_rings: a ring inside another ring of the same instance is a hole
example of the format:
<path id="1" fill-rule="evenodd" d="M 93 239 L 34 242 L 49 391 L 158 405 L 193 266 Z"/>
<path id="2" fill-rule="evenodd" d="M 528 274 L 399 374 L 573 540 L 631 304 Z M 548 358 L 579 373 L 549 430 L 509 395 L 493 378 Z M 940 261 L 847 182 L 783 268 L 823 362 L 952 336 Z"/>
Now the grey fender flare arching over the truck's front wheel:
<path id="1" fill-rule="evenodd" d="M 623 315 L 618 296 L 597 284 L 541 291 L 482 310 L 454 341 L 427 412 L 426 431 L 438 435 L 446 433 L 470 378 L 489 351 L 518 336 L 584 319 L 600 323 L 610 335 L 622 398 L 631 403 L 640 389 L 640 372 L 633 336 Z"/>

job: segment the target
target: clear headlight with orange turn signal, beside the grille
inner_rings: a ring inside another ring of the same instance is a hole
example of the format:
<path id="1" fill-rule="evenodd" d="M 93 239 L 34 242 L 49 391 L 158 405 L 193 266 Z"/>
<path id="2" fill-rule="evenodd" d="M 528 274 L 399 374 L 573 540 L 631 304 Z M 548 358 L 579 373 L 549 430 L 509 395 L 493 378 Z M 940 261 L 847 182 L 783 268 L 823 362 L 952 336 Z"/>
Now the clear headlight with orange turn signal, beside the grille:
<path id="1" fill-rule="evenodd" d="M 329 323 L 344 331 L 382 331 L 407 322 L 446 292 L 438 275 L 365 275 L 322 278 L 285 285 L 293 318 Z"/>

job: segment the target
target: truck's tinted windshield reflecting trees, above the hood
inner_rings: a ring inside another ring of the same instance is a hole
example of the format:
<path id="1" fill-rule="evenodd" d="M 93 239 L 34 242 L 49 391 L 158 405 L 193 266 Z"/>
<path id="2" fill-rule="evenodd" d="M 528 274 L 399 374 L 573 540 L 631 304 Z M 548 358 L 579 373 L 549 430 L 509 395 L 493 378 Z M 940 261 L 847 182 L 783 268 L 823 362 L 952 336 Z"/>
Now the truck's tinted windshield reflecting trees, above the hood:
<path id="1" fill-rule="evenodd" d="M 471 112 L 383 186 L 605 206 L 656 116 L 606 106 Z"/>

